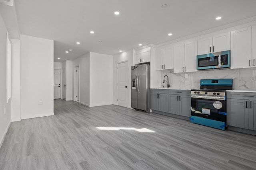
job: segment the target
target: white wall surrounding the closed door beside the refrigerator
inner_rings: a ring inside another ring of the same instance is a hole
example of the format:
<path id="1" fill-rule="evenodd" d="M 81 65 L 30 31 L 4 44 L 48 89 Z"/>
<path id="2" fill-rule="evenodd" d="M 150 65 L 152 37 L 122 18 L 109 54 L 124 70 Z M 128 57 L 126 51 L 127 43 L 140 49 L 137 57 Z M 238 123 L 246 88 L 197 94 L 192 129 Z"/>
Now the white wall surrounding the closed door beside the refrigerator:
<path id="1" fill-rule="evenodd" d="M 113 104 L 117 105 L 117 64 L 122 61 L 128 61 L 127 107 L 131 108 L 131 67 L 133 66 L 133 49 L 116 54 L 113 57 Z"/>

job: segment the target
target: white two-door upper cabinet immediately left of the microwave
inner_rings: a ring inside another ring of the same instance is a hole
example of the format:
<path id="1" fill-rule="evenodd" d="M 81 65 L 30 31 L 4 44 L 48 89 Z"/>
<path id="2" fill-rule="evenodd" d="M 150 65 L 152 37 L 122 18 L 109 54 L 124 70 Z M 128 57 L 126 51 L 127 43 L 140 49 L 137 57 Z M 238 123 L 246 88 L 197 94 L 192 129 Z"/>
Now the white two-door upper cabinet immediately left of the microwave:
<path id="1" fill-rule="evenodd" d="M 197 41 L 188 40 L 174 46 L 174 73 L 195 72 Z"/>

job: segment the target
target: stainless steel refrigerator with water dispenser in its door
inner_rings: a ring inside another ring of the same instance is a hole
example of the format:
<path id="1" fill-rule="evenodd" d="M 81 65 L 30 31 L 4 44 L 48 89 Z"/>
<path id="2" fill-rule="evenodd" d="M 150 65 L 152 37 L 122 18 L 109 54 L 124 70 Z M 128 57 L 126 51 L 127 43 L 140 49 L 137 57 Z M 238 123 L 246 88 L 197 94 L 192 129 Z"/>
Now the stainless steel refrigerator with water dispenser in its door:
<path id="1" fill-rule="evenodd" d="M 132 108 L 150 112 L 150 65 L 132 66 Z"/>

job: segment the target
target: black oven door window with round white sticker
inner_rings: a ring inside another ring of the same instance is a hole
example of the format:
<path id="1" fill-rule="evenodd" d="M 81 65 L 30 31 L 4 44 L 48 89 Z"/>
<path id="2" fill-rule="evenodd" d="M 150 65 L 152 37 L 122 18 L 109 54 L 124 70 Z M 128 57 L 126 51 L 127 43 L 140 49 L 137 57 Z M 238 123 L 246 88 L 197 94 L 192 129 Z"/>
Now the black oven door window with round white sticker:
<path id="1" fill-rule="evenodd" d="M 226 100 L 191 98 L 191 115 L 226 121 Z"/>

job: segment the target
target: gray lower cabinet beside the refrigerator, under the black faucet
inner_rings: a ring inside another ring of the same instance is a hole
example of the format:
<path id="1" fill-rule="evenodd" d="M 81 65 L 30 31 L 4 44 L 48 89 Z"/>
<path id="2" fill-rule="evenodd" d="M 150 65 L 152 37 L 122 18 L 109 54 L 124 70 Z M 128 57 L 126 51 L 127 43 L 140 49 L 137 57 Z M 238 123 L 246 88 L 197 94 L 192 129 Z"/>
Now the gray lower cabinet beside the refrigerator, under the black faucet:
<path id="1" fill-rule="evenodd" d="M 167 113 L 168 90 L 151 89 L 150 91 L 150 109 Z"/>

